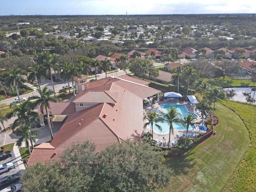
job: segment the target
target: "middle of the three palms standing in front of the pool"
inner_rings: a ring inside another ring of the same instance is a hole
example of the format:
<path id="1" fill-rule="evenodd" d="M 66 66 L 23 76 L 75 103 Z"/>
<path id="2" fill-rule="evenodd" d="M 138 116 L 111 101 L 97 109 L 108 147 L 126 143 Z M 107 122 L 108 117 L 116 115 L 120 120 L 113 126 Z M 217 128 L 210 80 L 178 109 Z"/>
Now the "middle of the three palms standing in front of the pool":
<path id="1" fill-rule="evenodd" d="M 164 114 L 164 121 L 167 122 L 170 126 L 169 144 L 168 144 L 167 150 L 169 149 L 169 145 L 170 145 L 171 132 L 173 134 L 173 123 L 184 124 L 184 121 L 182 120 L 182 118 L 180 118 L 180 116 L 181 114 L 177 111 L 175 107 L 171 107 L 170 109 L 167 109 L 167 112 Z"/>

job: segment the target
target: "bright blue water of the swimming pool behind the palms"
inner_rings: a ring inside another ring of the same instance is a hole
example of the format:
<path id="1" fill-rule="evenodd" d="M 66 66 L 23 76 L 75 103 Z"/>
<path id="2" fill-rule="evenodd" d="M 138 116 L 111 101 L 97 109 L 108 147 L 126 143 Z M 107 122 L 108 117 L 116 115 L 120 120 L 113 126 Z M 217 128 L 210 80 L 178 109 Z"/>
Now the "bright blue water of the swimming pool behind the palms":
<path id="1" fill-rule="evenodd" d="M 167 112 L 167 109 L 170 109 L 171 107 L 176 107 L 177 112 L 179 112 L 181 114 L 181 118 L 184 118 L 184 116 L 186 116 L 187 114 L 194 114 L 194 113 L 190 113 L 187 111 L 186 107 L 184 105 L 160 105 L 160 108 L 162 108 L 164 110 L 164 112 Z M 161 117 L 163 117 L 164 115 L 160 115 Z M 194 114 L 194 116 L 196 118 L 198 118 L 198 116 L 196 114 Z M 155 125 L 153 126 L 153 130 L 154 132 L 156 132 L 157 134 L 166 134 L 169 132 L 169 128 L 170 126 L 168 125 L 167 122 L 158 122 L 158 125 L 160 125 L 162 127 L 162 131 L 160 131 Z M 149 126 L 150 128 L 150 126 Z M 194 124 L 188 127 L 188 130 L 194 130 L 195 126 Z M 174 123 L 173 124 L 173 129 L 174 130 L 186 130 L 186 128 L 182 125 L 182 124 L 178 124 L 178 123 Z"/>

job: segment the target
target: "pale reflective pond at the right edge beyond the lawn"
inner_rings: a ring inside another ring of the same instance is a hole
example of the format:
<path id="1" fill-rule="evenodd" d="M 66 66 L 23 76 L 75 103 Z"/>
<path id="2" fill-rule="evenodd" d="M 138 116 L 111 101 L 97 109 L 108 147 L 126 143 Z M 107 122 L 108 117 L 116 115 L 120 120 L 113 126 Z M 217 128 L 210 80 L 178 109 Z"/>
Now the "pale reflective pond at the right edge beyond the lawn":
<path id="1" fill-rule="evenodd" d="M 256 88 L 233 87 L 224 88 L 223 90 L 227 92 L 227 99 L 229 100 L 256 104 Z"/>

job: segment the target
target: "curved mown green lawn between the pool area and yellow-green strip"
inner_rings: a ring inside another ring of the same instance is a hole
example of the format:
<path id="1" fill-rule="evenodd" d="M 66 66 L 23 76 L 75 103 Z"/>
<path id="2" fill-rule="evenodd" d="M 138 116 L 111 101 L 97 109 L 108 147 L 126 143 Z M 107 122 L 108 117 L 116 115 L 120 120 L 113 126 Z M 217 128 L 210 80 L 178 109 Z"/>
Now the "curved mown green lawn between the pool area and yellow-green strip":
<path id="1" fill-rule="evenodd" d="M 217 135 L 184 156 L 168 160 L 175 174 L 161 192 L 214 192 L 226 186 L 248 150 L 250 140 L 246 126 L 232 110 L 217 103 L 215 113 L 220 118 L 220 125 L 215 127 Z"/>

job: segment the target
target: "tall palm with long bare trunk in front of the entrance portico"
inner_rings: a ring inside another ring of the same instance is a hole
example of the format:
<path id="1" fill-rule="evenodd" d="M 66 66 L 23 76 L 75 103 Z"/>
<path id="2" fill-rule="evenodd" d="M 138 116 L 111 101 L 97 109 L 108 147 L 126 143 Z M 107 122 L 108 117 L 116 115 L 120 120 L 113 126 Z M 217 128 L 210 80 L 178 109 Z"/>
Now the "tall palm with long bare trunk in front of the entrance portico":
<path id="1" fill-rule="evenodd" d="M 50 129 L 51 138 L 53 139 L 52 126 L 51 126 L 50 116 L 48 112 L 48 109 L 50 109 L 49 102 L 50 101 L 59 102 L 59 99 L 56 98 L 55 96 L 52 96 L 52 94 L 54 94 L 54 91 L 48 89 L 48 87 L 44 87 L 42 90 L 38 89 L 37 92 L 40 94 L 40 96 L 30 96 L 28 100 L 36 100 L 34 102 L 34 105 L 38 106 L 40 104 L 40 111 L 42 112 L 42 114 L 44 114 L 44 109 L 46 110 L 48 126 Z"/>

